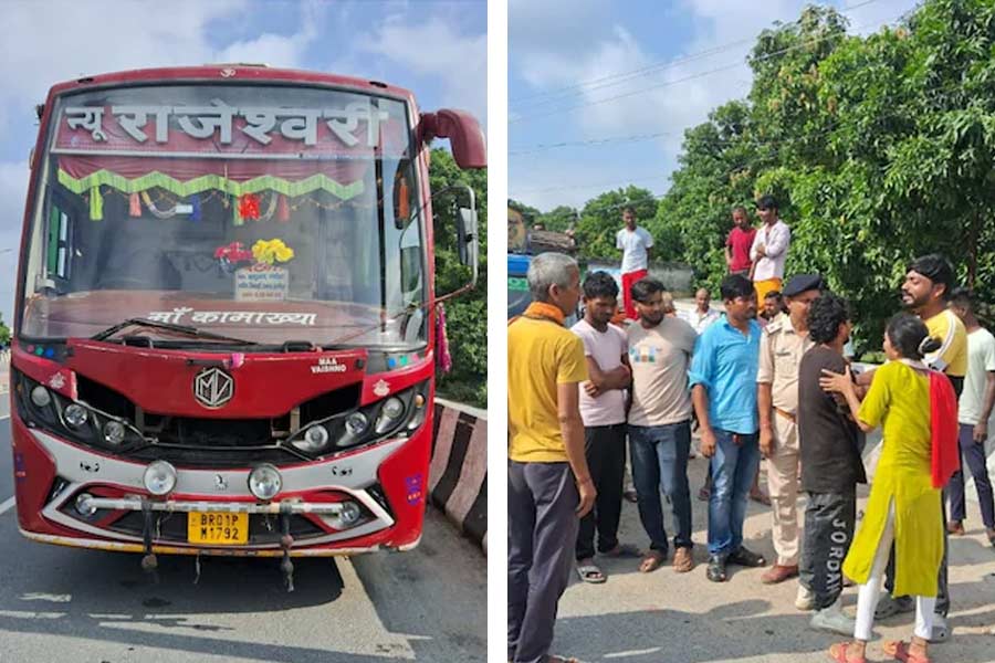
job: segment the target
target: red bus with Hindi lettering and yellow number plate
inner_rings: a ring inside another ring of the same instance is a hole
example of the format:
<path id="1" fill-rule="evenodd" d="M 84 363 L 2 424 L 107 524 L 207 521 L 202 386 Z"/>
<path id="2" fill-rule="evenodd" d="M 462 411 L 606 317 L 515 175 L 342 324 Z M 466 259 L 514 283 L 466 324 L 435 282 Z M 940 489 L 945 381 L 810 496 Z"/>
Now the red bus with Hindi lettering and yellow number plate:
<path id="1" fill-rule="evenodd" d="M 460 110 L 262 65 L 52 87 L 18 272 L 21 533 L 156 554 L 406 550 L 434 397 L 428 144 Z M 476 269 L 473 196 L 460 254 Z"/>

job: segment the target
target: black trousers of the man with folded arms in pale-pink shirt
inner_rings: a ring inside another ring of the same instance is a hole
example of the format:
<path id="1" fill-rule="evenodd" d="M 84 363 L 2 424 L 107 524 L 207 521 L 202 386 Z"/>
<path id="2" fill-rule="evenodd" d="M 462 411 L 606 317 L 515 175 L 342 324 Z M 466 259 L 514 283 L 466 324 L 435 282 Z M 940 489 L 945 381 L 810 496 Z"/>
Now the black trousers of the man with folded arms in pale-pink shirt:
<path id="1" fill-rule="evenodd" d="M 618 545 L 621 517 L 622 481 L 626 474 L 626 424 L 595 425 L 584 429 L 585 455 L 598 496 L 595 506 L 580 519 L 577 533 L 577 559 L 606 552 Z"/>

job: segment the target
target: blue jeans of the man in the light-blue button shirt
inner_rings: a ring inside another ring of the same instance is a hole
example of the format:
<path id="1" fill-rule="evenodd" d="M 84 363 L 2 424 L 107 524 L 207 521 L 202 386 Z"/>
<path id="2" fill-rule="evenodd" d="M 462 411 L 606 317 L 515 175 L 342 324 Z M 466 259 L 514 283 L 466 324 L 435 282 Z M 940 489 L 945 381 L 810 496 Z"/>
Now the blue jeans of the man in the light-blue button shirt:
<path id="1" fill-rule="evenodd" d="M 722 557 L 743 544 L 746 498 L 760 467 L 760 440 L 714 429 L 715 454 L 711 460 L 712 494 L 709 497 L 709 554 Z M 737 439 L 739 444 L 733 440 Z"/>

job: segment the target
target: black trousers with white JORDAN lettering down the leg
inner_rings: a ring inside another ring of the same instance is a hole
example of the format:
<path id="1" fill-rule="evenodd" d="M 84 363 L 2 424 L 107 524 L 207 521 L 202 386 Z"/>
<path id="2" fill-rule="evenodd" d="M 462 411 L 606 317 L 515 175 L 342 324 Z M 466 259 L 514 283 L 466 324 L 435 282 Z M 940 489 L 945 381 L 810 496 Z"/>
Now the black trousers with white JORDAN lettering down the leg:
<path id="1" fill-rule="evenodd" d="M 842 593 L 842 560 L 853 543 L 857 493 L 809 493 L 805 507 L 805 540 L 798 575 L 815 594 L 816 610 Z"/>

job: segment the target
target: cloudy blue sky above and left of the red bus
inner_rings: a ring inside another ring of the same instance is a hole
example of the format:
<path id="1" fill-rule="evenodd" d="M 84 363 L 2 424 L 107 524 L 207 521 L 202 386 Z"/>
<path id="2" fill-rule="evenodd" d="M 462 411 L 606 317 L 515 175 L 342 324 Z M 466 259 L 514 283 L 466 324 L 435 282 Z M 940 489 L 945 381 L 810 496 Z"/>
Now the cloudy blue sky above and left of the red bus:
<path id="1" fill-rule="evenodd" d="M 34 106 L 55 83 L 150 66 L 265 63 L 385 81 L 413 92 L 422 110 L 462 108 L 486 127 L 484 0 L 4 0 L 0 11 L 0 313 L 8 323 Z"/>

